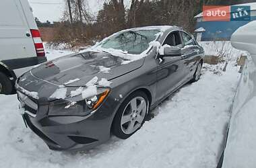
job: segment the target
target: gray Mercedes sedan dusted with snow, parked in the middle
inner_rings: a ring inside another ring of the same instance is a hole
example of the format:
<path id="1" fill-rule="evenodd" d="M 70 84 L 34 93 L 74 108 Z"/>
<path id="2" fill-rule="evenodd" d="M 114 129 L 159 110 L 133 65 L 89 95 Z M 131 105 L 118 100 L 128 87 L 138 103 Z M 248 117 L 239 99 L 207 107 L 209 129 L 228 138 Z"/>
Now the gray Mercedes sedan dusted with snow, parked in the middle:
<path id="1" fill-rule="evenodd" d="M 53 150 L 129 138 L 150 109 L 201 75 L 204 51 L 177 26 L 122 30 L 17 79 L 20 113 Z"/>

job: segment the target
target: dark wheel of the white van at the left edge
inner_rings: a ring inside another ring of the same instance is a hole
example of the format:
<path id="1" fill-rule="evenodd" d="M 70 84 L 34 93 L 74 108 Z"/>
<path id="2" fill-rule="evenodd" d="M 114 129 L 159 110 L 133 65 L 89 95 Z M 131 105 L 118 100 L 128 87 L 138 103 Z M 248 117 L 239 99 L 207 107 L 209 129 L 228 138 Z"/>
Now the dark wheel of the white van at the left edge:
<path id="1" fill-rule="evenodd" d="M 12 93 L 12 83 L 9 78 L 0 72 L 0 94 L 9 95 Z"/>

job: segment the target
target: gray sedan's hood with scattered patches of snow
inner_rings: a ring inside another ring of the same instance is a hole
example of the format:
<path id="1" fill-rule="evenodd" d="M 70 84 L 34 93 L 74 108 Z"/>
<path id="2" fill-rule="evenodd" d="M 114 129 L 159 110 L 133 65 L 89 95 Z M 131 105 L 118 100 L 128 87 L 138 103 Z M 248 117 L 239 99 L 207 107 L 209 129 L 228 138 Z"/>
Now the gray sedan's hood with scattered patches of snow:
<path id="1" fill-rule="evenodd" d="M 124 64 L 125 59 L 107 52 L 84 52 L 46 62 L 30 73 L 55 85 L 78 87 L 85 86 L 93 77 L 110 81 L 139 69 L 143 61 L 144 58 Z"/>

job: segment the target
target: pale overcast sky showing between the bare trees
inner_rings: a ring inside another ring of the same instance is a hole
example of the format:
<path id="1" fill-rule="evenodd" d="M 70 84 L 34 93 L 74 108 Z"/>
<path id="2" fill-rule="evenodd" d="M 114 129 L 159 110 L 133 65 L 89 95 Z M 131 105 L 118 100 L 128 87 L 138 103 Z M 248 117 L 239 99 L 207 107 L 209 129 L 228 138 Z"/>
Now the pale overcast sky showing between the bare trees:
<path id="1" fill-rule="evenodd" d="M 38 17 L 41 22 L 59 21 L 65 10 L 65 0 L 28 0 L 33 9 L 34 17 Z M 96 15 L 102 8 L 102 0 L 87 0 L 89 10 Z M 126 0 L 129 4 L 129 0 Z"/>

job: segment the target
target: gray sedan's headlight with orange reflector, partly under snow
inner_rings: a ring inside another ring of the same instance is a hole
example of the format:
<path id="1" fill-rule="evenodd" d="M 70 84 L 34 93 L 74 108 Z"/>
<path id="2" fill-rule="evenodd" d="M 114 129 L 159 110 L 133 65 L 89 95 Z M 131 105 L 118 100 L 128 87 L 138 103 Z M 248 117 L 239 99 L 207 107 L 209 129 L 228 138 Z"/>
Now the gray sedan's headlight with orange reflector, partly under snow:
<path id="1" fill-rule="evenodd" d="M 87 116 L 96 110 L 108 96 L 110 89 L 97 89 L 97 95 L 82 99 L 81 95 L 50 103 L 49 116 Z"/>

